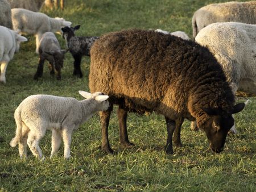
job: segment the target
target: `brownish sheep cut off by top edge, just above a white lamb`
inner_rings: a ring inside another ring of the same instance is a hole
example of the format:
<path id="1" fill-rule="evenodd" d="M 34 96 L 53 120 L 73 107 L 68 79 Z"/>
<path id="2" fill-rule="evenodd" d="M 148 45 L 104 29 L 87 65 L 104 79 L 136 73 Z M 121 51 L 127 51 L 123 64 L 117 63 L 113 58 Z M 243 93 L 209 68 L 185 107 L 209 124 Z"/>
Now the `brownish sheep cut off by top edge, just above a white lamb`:
<path id="1" fill-rule="evenodd" d="M 13 8 L 23 8 L 38 12 L 44 5 L 44 0 L 7 0 Z"/>

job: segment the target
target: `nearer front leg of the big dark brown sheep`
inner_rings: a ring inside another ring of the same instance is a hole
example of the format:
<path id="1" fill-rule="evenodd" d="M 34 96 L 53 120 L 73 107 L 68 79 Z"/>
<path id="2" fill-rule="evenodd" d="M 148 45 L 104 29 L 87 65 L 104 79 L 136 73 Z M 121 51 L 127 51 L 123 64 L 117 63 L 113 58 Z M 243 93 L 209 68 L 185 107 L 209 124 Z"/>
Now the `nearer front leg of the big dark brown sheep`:
<path id="1" fill-rule="evenodd" d="M 165 118 L 166 118 L 166 126 L 167 126 L 167 142 L 166 142 L 165 151 L 168 154 L 173 154 L 174 150 L 172 149 L 172 135 L 174 134 L 174 130 L 175 130 L 175 121 L 167 117 Z"/>

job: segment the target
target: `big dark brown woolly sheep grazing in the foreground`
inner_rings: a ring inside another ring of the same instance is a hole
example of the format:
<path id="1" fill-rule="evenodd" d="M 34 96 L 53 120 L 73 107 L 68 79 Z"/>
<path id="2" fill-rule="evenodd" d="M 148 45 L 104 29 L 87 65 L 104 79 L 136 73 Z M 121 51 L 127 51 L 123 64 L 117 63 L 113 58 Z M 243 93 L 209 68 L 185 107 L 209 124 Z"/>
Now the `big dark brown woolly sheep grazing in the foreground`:
<path id="1" fill-rule="evenodd" d="M 196 120 L 214 152 L 224 148 L 226 135 L 234 124 L 234 95 L 220 64 L 207 48 L 174 35 L 154 31 L 128 30 L 100 37 L 90 51 L 89 87 L 109 95 L 110 108 L 100 112 L 101 147 L 109 145 L 108 125 L 113 104 L 119 105 L 119 141 L 129 142 L 127 112 L 155 111 L 167 124 L 166 153 L 174 143 L 181 146 L 180 128 L 184 118 Z"/>

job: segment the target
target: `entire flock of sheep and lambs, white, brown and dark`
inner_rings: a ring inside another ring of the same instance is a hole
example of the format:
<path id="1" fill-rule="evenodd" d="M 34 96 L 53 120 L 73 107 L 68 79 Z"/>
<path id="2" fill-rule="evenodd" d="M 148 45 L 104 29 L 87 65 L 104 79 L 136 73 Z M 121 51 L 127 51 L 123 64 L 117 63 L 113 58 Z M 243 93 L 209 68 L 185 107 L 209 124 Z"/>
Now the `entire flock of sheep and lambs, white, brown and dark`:
<path id="1" fill-rule="evenodd" d="M 0 16 L 1 82 L 6 82 L 6 67 L 19 43 L 27 40 L 20 34 L 36 36 L 40 60 L 35 80 L 42 77 L 45 60 L 51 65 L 50 73 L 56 72 L 60 80 L 67 51 L 74 59 L 74 76 L 82 77 L 82 56 L 91 59 L 89 87 L 93 94 L 79 92 L 85 100 L 31 95 L 16 108 L 16 136 L 10 145 L 19 144 L 20 157 L 26 157 L 28 145 L 42 158 L 39 141 L 49 129 L 51 157 L 62 136 L 64 157 L 69 158 L 72 131 L 97 111 L 102 150 L 113 153 L 108 125 L 114 104 L 118 105 L 119 141 L 126 147 L 134 145 L 128 139 L 127 113 L 155 111 L 166 119 L 166 153 L 174 152 L 172 143 L 182 146 L 180 130 L 185 118 L 193 122 L 192 128 L 203 130 L 212 151 L 220 153 L 228 132 L 236 132 L 232 114 L 245 107 L 245 103 L 234 104 L 234 94 L 240 90 L 256 95 L 256 1 L 218 3 L 197 10 L 192 18 L 195 41 L 182 31 L 159 29 L 75 36 L 80 26 L 71 27 L 63 18 L 11 9 L 7 0 L 0 0 L 1 9 L 3 5 L 7 17 Z M 53 34 L 56 31 L 62 32 L 68 49 L 60 48 Z"/>

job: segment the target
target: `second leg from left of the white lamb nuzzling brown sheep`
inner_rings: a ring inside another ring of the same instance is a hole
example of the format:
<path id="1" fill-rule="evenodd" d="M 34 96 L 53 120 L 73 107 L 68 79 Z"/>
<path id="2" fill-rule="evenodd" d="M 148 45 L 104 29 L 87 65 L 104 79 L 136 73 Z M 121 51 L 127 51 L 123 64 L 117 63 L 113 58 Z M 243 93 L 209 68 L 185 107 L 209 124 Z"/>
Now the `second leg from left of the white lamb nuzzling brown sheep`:
<path id="1" fill-rule="evenodd" d="M 42 150 L 39 147 L 39 141 L 42 139 L 44 133 L 32 132 L 28 133 L 27 144 L 34 156 L 42 158 Z"/>

